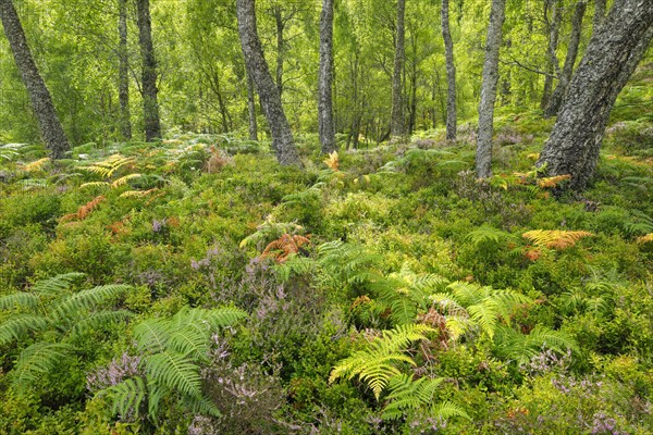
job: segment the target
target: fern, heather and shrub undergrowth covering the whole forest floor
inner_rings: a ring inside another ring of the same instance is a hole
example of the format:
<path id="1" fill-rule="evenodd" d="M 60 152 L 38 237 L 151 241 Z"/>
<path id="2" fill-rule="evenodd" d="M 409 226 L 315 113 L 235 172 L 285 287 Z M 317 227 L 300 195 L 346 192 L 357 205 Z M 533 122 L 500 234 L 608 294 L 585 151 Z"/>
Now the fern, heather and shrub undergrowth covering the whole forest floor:
<path id="1" fill-rule="evenodd" d="M 562 197 L 537 112 L 488 181 L 441 129 L 328 164 L 305 136 L 304 170 L 234 136 L 3 146 L 0 432 L 648 433 L 638 84 Z"/>

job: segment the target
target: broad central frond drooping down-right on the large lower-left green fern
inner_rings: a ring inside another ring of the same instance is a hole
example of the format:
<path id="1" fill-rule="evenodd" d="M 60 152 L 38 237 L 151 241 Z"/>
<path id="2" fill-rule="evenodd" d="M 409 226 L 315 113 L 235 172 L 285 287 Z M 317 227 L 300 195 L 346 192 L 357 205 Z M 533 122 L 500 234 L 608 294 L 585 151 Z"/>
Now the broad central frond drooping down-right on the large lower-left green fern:
<path id="1" fill-rule="evenodd" d="M 188 396 L 202 395 L 199 366 L 192 359 L 162 351 L 147 358 L 145 364 L 149 375 L 170 389 Z"/>

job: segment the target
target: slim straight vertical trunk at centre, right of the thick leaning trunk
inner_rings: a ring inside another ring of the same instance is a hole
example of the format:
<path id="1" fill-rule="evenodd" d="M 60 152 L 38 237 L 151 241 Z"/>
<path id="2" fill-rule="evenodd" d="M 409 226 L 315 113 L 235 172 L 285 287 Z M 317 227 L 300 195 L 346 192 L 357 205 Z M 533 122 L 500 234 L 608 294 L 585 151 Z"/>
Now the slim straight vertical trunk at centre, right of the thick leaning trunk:
<path id="1" fill-rule="evenodd" d="M 320 67 L 318 73 L 318 124 L 322 152 L 335 151 L 333 124 L 333 0 L 322 1 L 320 16 Z"/>

